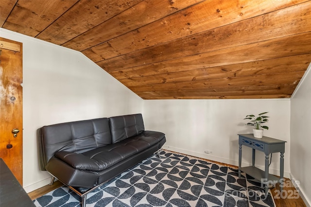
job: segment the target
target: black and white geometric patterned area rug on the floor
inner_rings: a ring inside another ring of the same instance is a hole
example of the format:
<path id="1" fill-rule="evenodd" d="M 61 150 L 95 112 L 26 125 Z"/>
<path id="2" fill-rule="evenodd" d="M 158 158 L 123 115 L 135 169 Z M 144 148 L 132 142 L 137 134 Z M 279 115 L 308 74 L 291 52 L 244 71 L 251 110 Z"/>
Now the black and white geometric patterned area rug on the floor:
<path id="1" fill-rule="evenodd" d="M 238 170 L 162 151 L 89 193 L 86 207 L 275 207 L 270 191 Z M 80 207 L 62 186 L 34 200 L 36 207 Z"/>

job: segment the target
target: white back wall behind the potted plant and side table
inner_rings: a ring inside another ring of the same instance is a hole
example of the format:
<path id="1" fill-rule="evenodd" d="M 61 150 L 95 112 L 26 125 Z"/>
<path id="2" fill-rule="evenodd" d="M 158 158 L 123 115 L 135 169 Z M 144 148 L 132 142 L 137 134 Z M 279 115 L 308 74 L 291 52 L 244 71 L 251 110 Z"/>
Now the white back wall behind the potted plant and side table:
<path id="1" fill-rule="evenodd" d="M 269 111 L 269 130 L 264 136 L 287 141 L 284 176 L 290 173 L 290 99 L 240 100 L 145 100 L 144 122 L 162 131 L 163 148 L 201 158 L 238 165 L 238 135 L 253 133 L 243 120 L 248 114 Z M 212 150 L 211 155 L 204 153 Z M 251 148 L 242 147 L 242 166 L 251 164 Z M 279 153 L 273 154 L 270 172 L 279 175 Z M 264 154 L 256 151 L 256 165 L 264 169 Z"/>

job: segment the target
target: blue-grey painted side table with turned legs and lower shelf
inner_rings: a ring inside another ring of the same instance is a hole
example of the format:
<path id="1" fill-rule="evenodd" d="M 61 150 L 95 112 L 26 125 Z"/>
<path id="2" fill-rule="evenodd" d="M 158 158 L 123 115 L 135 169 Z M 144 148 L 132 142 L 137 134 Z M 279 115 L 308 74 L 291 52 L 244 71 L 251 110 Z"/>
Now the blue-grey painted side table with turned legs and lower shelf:
<path id="1" fill-rule="evenodd" d="M 268 184 L 280 183 L 280 191 L 283 190 L 284 175 L 284 152 L 286 141 L 277 140 L 271 137 L 255 138 L 253 134 L 239 134 L 239 177 L 241 171 L 259 180 L 265 185 L 265 193 L 268 192 Z M 253 148 L 252 166 L 241 167 L 242 164 L 242 145 Z M 265 154 L 265 171 L 255 167 L 255 150 L 264 152 Z M 269 174 L 269 154 L 280 152 L 280 177 Z"/>

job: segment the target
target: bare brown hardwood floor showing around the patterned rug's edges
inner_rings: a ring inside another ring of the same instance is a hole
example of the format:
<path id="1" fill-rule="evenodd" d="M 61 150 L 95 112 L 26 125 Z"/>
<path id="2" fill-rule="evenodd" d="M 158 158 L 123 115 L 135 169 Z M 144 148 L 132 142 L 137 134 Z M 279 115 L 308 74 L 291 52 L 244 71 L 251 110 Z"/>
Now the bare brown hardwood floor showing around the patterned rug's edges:
<path id="1" fill-rule="evenodd" d="M 168 151 L 168 150 L 166 150 Z M 179 153 L 181 154 L 181 153 Z M 193 156 L 191 156 L 193 157 Z M 202 158 L 200 158 L 202 159 Z M 207 159 L 205 159 L 207 160 Z M 217 162 L 213 160 L 207 160 L 211 162 L 215 162 L 221 165 L 225 165 L 232 168 L 238 168 L 234 165 L 225 164 L 222 162 Z M 39 188 L 35 191 L 29 192 L 29 197 L 34 200 L 50 191 L 53 191 L 54 189 L 62 186 L 63 184 L 60 181 L 55 181 L 52 186 L 46 185 L 42 188 Z M 294 187 L 294 184 L 289 178 L 285 178 L 285 185 L 283 188 L 283 191 L 279 191 L 279 184 L 276 184 L 276 187 L 270 189 L 272 196 L 274 197 L 274 201 L 276 203 L 276 207 L 307 207 L 300 195 L 298 194 L 297 190 Z"/>

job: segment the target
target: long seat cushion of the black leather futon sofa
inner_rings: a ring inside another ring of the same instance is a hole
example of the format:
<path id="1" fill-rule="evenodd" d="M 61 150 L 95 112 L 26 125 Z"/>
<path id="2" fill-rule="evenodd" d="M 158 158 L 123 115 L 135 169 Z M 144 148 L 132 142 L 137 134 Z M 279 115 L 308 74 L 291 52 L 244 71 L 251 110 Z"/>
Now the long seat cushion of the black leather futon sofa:
<path id="1" fill-rule="evenodd" d="M 137 136 L 82 154 L 59 151 L 55 153 L 55 158 L 61 159 L 75 169 L 98 172 L 159 143 L 164 137 L 165 134 L 162 132 L 143 131 Z"/>

